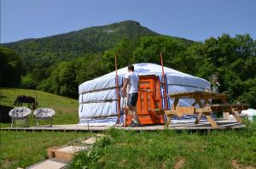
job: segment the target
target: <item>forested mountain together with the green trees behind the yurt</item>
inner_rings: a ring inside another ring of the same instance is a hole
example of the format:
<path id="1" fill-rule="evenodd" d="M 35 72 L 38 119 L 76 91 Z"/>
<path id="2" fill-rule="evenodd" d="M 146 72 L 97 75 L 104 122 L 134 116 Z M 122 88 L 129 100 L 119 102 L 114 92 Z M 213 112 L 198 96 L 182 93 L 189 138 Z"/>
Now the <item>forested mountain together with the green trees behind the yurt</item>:
<path id="1" fill-rule="evenodd" d="M 76 98 L 81 82 L 114 70 L 114 54 L 121 68 L 138 62 L 160 64 L 162 52 L 167 67 L 207 80 L 218 75 L 220 92 L 229 93 L 231 102 L 256 108 L 256 41 L 247 34 L 192 42 L 125 21 L 3 45 L 20 54 L 20 87 Z"/>

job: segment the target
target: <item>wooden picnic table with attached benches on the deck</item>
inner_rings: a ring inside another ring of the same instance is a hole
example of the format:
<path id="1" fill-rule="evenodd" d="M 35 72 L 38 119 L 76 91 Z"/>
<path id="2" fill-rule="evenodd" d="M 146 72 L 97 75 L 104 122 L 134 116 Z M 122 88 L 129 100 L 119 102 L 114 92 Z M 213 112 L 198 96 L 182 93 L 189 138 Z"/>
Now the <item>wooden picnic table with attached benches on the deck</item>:
<path id="1" fill-rule="evenodd" d="M 207 121 L 210 122 L 213 128 L 218 128 L 216 121 L 212 119 L 210 113 L 223 113 L 227 112 L 234 115 L 236 121 L 241 123 L 241 117 L 238 115 L 237 111 L 245 110 L 248 108 L 248 104 L 229 104 L 229 95 L 224 93 L 212 93 L 203 91 L 193 91 L 185 93 L 173 93 L 167 94 L 170 98 L 173 98 L 172 109 L 162 109 L 159 110 L 160 113 L 166 115 L 166 127 L 171 122 L 172 115 L 183 116 L 183 115 L 197 115 L 195 124 L 200 122 L 201 116 L 206 115 Z M 195 103 L 189 107 L 177 106 L 179 99 L 195 99 Z M 212 104 L 212 99 L 221 100 L 222 104 Z M 198 104 L 199 108 L 195 105 Z"/>

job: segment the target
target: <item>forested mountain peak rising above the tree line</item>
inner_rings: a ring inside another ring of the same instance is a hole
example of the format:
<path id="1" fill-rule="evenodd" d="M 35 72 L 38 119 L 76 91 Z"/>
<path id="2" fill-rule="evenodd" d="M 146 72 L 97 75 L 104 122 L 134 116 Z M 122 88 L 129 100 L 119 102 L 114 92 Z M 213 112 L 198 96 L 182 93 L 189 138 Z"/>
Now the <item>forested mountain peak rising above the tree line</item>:
<path id="1" fill-rule="evenodd" d="M 143 27 L 133 20 L 94 26 L 79 31 L 71 31 L 52 37 L 25 39 L 3 43 L 20 54 L 23 65 L 52 65 L 61 60 L 71 60 L 84 54 L 99 54 L 113 48 L 119 41 L 156 36 L 158 33 Z M 181 39 L 185 43 L 192 41 Z M 34 65 L 34 66 L 36 66 Z M 26 67 L 26 66 L 25 66 Z M 27 69 L 28 70 L 28 69 Z"/>

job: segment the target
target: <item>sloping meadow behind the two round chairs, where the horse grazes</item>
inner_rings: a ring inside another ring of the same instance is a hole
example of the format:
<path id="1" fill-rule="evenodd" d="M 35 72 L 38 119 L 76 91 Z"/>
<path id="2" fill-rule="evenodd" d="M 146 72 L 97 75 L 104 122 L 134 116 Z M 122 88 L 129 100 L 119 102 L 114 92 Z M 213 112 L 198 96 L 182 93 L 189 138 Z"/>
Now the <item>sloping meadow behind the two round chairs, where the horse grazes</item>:
<path id="1" fill-rule="evenodd" d="M 77 124 L 79 122 L 78 99 L 68 99 L 55 94 L 35 90 L 0 88 L 0 104 L 13 106 L 18 95 L 29 95 L 34 97 L 35 92 L 37 93 L 38 98 L 38 108 L 47 107 L 55 110 L 54 124 Z M 31 120 L 31 117 L 29 119 Z M 30 124 L 34 124 L 34 121 L 30 121 Z M 46 121 L 42 124 L 46 124 Z M 1 127 L 9 126 L 9 124 L 1 123 Z"/>

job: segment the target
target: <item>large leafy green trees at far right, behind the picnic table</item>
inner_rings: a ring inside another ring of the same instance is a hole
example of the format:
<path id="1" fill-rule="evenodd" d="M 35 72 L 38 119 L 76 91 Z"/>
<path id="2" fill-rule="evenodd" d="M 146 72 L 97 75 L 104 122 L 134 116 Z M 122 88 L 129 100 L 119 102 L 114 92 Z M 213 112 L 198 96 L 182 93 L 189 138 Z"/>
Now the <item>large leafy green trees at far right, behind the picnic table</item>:
<path id="1" fill-rule="evenodd" d="M 255 108 L 256 42 L 249 35 L 224 34 L 189 47 L 185 58 L 189 72 L 208 79 L 219 75 L 220 92 L 229 93 L 230 101 L 241 99 Z M 208 79 L 209 80 L 209 79 Z"/>

